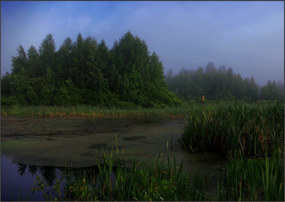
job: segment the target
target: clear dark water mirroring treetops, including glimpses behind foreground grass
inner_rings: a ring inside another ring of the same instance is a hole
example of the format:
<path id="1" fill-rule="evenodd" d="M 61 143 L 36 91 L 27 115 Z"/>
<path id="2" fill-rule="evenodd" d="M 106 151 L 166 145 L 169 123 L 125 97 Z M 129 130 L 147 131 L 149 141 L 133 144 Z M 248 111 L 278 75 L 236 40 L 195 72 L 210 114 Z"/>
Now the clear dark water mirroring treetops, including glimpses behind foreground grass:
<path id="1" fill-rule="evenodd" d="M 79 178 L 78 175 L 82 176 L 82 173 L 85 172 L 86 177 L 91 176 L 94 185 L 99 173 L 97 165 L 82 168 L 27 165 L 13 163 L 1 154 L 1 201 L 45 201 L 42 192 L 35 191 L 33 195 L 29 191 L 31 187 L 36 187 L 34 184 L 36 177 L 39 175 L 42 178 L 44 183 L 48 185 L 45 187 L 46 191 L 51 193 L 55 179 L 60 179 L 65 171 L 72 174 L 74 179 Z M 111 177 L 115 178 L 115 172 L 112 172 Z M 64 188 L 63 184 L 62 189 Z"/>

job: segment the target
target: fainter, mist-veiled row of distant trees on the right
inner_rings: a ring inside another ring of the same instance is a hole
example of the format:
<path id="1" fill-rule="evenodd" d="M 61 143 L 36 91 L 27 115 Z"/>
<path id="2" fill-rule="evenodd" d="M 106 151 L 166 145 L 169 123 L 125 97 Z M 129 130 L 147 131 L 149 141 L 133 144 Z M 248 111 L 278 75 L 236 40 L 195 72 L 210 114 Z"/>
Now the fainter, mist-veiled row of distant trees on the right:
<path id="1" fill-rule="evenodd" d="M 168 70 L 165 81 L 168 89 L 182 101 L 205 100 L 256 102 L 256 100 L 284 100 L 284 83 L 268 81 L 258 86 L 254 78 L 243 79 L 240 74 L 222 65 L 217 69 L 212 62 L 197 70 L 182 68 L 177 75 Z"/>

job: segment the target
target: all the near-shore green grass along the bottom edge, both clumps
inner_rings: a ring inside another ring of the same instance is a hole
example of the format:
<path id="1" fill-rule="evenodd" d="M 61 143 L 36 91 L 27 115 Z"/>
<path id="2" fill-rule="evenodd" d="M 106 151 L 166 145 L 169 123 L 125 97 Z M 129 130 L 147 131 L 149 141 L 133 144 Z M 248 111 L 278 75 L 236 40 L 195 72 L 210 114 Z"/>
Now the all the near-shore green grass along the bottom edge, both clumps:
<path id="1" fill-rule="evenodd" d="M 42 191 L 46 201 L 284 201 L 280 149 L 274 148 L 271 158 L 266 152 L 265 159 L 240 155 L 227 161 L 215 193 L 207 192 L 211 179 L 184 172 L 183 161 L 177 166 L 175 158 L 126 159 L 117 141 L 108 153 L 102 149 L 103 157 L 95 159 L 96 174 L 65 166 L 61 179 L 55 176 L 53 191 L 47 192 L 48 184 L 39 176 L 31 191 Z"/>

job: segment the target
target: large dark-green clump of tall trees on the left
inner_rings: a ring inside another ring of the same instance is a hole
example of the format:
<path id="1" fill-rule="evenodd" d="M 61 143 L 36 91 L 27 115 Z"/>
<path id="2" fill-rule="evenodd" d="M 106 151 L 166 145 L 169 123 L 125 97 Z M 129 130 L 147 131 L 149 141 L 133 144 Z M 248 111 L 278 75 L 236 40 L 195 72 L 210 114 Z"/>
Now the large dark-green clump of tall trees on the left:
<path id="1" fill-rule="evenodd" d="M 109 50 L 94 37 L 67 37 L 59 50 L 47 34 L 37 50 L 20 45 L 1 78 L 1 105 L 162 107 L 181 101 L 167 90 L 159 56 L 128 31 Z"/>

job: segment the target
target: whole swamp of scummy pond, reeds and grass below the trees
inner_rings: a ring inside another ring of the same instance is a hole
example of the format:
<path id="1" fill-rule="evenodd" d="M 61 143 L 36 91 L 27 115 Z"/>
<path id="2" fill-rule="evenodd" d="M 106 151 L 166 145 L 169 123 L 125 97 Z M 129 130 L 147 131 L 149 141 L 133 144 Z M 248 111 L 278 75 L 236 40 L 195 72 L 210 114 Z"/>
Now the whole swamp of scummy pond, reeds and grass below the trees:
<path id="1" fill-rule="evenodd" d="M 102 117 L 11 111 L 1 110 L 1 201 L 284 200 L 283 103 Z"/>

